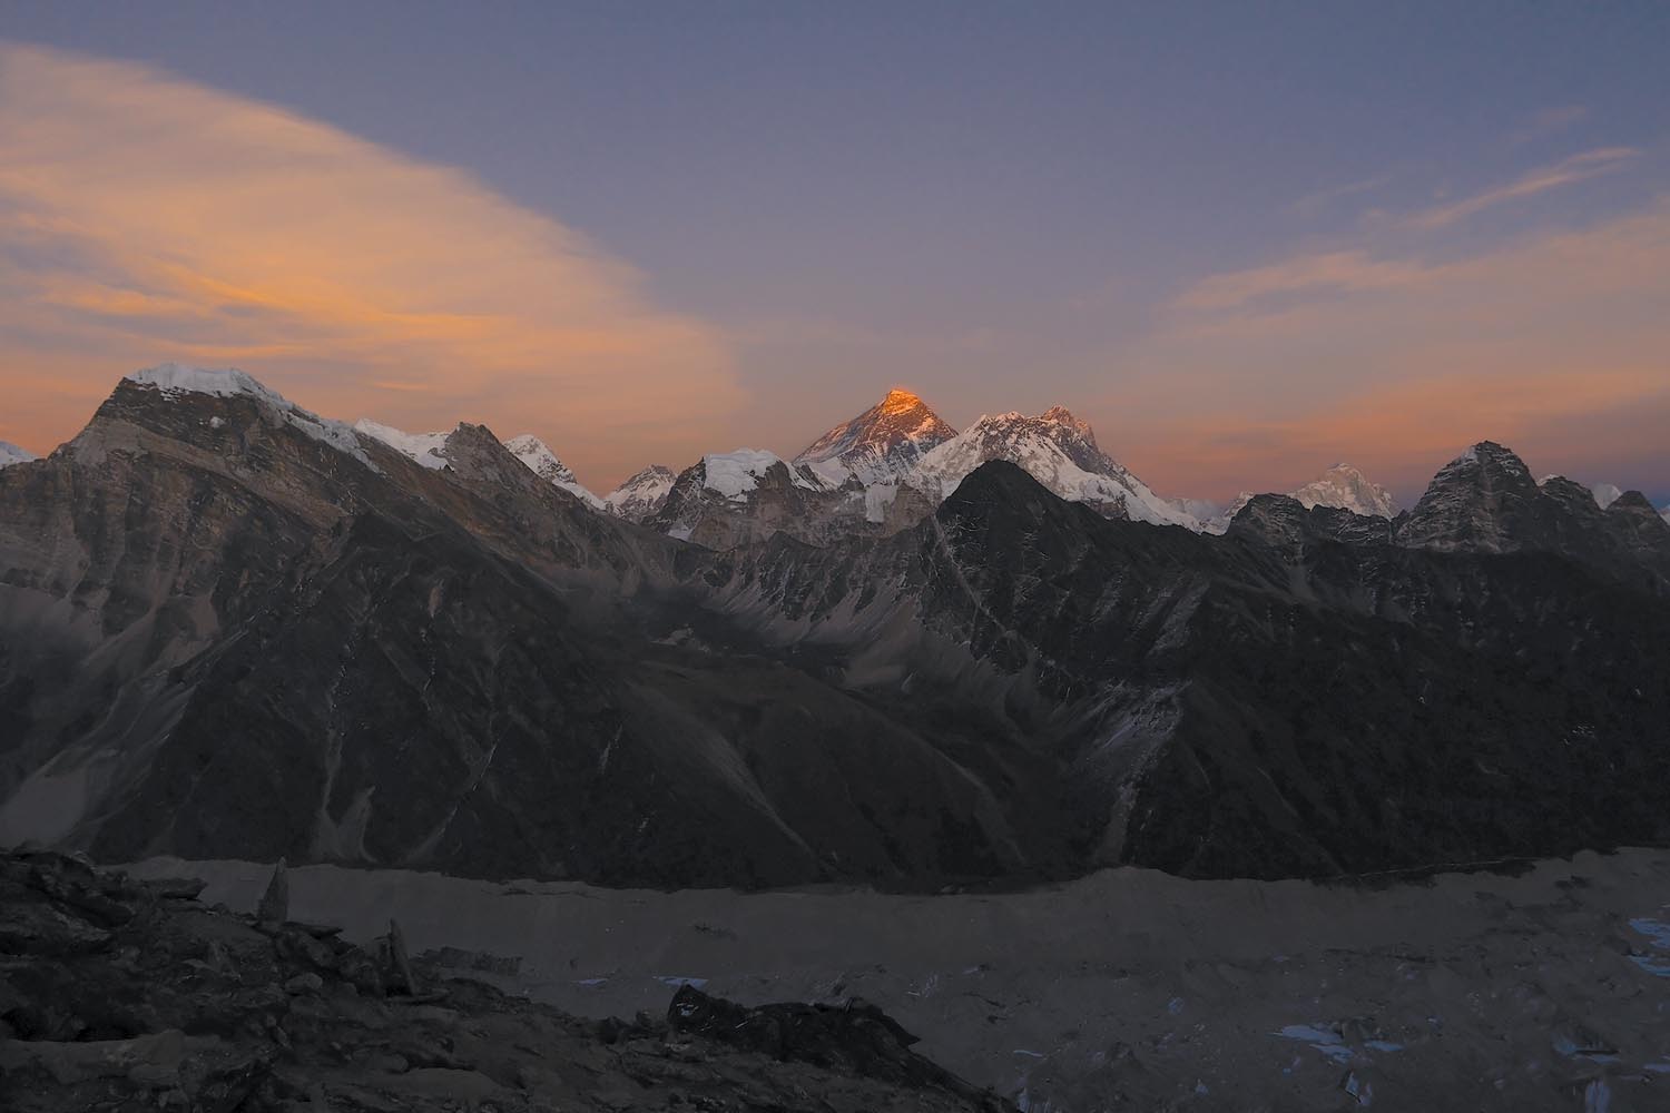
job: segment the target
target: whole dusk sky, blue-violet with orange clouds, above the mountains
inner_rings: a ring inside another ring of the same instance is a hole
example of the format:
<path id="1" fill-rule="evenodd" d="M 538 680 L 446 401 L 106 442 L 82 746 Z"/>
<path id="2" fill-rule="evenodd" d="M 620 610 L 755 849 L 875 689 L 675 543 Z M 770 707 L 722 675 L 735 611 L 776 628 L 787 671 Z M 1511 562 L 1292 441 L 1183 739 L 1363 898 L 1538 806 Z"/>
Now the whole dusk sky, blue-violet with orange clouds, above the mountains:
<path id="1" fill-rule="evenodd" d="M 1670 502 L 1670 5 L 0 0 L 0 439 L 239 365 L 608 491 L 902 385 Z"/>

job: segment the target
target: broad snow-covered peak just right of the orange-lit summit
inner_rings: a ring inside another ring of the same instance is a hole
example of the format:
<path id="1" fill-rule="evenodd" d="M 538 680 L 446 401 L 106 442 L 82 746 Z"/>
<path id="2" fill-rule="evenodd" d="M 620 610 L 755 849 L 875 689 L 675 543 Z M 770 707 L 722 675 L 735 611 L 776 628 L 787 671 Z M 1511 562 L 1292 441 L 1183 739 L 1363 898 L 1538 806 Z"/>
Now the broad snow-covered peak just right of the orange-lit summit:
<path id="1" fill-rule="evenodd" d="M 924 456 L 905 481 L 944 499 L 987 461 L 1017 464 L 1062 499 L 1084 502 L 1109 517 L 1201 529 L 1192 514 L 1154 494 L 1102 452 L 1089 422 L 1060 405 L 1037 417 L 984 415 Z"/>

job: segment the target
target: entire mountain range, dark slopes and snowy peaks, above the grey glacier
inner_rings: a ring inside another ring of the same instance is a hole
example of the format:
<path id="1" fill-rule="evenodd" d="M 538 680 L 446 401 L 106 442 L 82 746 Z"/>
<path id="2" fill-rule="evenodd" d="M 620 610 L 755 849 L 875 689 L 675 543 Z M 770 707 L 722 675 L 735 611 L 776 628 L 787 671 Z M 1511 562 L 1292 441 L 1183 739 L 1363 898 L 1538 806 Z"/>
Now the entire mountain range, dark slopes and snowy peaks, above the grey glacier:
<path id="1" fill-rule="evenodd" d="M 930 417 L 595 499 L 481 426 L 124 379 L 0 469 L 0 841 L 910 889 L 1670 841 L 1640 494 L 1481 442 L 1396 517 L 1334 469 L 1216 534 L 1065 410 Z"/>

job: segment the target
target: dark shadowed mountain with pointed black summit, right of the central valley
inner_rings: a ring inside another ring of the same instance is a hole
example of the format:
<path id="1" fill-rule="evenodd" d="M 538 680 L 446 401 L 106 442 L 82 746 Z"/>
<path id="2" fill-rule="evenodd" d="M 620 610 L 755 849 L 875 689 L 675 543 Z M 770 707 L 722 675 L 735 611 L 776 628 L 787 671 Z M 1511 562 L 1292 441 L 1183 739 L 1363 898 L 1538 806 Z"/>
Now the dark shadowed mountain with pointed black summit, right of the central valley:
<path id="1" fill-rule="evenodd" d="M 1291 507 L 1269 536 L 1214 541 L 989 464 L 910 534 L 750 554 L 720 597 L 895 714 L 1014 724 L 1080 864 L 1329 874 L 1670 838 L 1660 596 L 1266 504 Z"/>

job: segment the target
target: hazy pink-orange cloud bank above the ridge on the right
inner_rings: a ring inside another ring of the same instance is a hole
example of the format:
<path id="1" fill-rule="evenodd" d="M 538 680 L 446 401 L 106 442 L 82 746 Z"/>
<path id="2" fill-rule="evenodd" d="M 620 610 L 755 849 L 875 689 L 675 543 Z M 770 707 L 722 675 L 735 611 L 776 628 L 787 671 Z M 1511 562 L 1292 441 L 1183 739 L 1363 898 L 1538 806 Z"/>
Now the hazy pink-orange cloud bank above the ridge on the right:
<path id="1" fill-rule="evenodd" d="M 1288 489 L 1339 459 L 1418 492 L 1486 437 L 1662 491 L 1670 199 L 1461 259 L 1353 247 L 1214 275 L 1122 364 L 1104 439 L 1169 492 Z"/>

